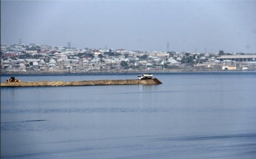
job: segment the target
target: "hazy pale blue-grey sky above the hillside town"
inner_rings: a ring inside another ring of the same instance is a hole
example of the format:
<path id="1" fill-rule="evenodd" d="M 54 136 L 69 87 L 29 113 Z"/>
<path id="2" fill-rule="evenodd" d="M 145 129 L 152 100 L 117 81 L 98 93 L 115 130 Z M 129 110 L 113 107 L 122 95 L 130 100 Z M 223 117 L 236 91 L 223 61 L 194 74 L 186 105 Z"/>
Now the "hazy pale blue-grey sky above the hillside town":
<path id="1" fill-rule="evenodd" d="M 256 1 L 1 0 L 1 44 L 256 54 Z M 167 47 L 167 44 L 168 47 Z"/>

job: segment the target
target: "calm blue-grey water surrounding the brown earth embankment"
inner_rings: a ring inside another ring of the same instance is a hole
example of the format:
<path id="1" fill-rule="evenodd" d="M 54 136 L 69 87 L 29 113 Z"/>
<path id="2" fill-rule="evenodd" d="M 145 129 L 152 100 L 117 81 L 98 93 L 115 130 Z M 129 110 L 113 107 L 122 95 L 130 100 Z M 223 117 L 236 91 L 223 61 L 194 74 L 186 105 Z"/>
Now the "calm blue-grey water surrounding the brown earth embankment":
<path id="1" fill-rule="evenodd" d="M 74 81 L 137 74 L 15 77 Z M 1 158 L 256 159 L 256 72 L 154 77 L 163 84 L 1 88 Z"/>

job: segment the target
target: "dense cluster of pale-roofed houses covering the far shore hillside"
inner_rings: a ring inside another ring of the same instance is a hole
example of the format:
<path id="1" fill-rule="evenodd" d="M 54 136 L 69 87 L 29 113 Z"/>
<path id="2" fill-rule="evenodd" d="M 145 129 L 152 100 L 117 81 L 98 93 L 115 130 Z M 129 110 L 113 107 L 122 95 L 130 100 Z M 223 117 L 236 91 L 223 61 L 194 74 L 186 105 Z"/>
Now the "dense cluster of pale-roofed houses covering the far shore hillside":
<path id="1" fill-rule="evenodd" d="M 111 69 L 256 68 L 254 55 L 146 52 L 124 49 L 77 49 L 48 45 L 1 44 L 1 71 L 88 71 Z M 192 63 L 186 63 L 191 58 Z M 185 61 L 185 62 L 184 62 Z M 224 67 L 224 68 L 223 68 Z"/>

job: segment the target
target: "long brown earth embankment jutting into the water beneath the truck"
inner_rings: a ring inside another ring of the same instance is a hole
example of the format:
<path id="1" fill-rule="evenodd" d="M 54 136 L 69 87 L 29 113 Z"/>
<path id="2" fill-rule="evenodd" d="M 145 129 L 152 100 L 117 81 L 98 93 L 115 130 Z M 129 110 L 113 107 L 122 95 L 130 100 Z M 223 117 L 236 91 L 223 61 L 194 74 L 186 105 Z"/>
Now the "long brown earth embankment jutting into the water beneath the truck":
<path id="1" fill-rule="evenodd" d="M 1 87 L 56 87 L 56 86 L 99 86 L 99 85 L 155 85 L 162 84 L 158 79 L 122 79 L 122 80 L 84 80 L 84 81 L 34 81 L 34 82 L 10 82 L 1 83 Z"/>

